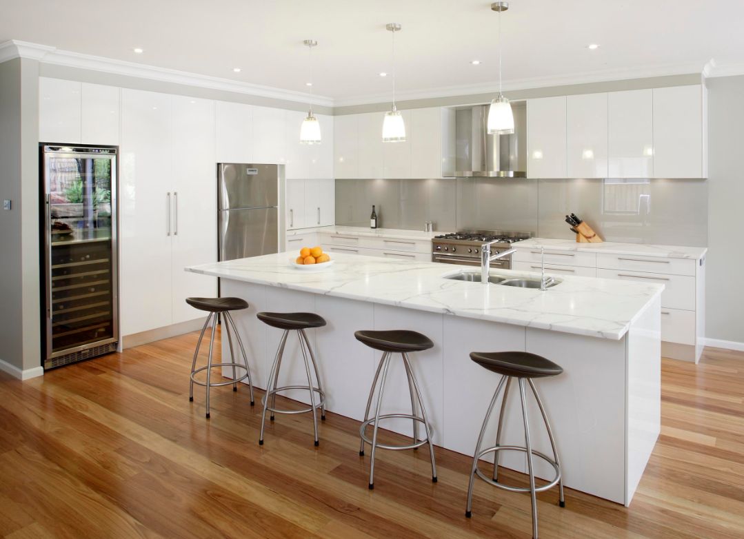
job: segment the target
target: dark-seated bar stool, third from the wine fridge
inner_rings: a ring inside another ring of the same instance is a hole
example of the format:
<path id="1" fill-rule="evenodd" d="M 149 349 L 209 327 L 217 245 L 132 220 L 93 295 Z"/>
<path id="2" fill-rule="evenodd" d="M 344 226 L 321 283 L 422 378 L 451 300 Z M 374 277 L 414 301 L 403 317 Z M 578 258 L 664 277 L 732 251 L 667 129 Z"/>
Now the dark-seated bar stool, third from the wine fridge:
<path id="1" fill-rule="evenodd" d="M 432 456 L 432 482 L 437 482 L 437 465 L 434 463 L 434 444 L 432 443 L 432 428 L 429 425 L 429 420 L 426 419 L 426 407 L 423 404 L 423 398 L 414 376 L 414 372 L 411 369 L 411 362 L 408 361 L 408 352 L 422 352 L 428 350 L 434 346 L 431 340 L 426 335 L 421 335 L 417 332 L 411 332 L 407 330 L 390 330 L 390 331 L 359 331 L 354 332 L 354 337 L 367 346 L 373 349 L 380 350 L 382 352 L 382 358 L 379 361 L 377 372 L 374 375 L 372 387 L 370 388 L 370 394 L 367 399 L 367 408 L 365 410 L 365 420 L 362 425 L 359 426 L 359 437 L 361 442 L 359 443 L 359 456 L 365 454 L 365 443 L 372 446 L 371 462 L 370 462 L 370 482 L 369 488 L 374 488 L 374 454 L 376 448 L 392 449 L 400 451 L 403 449 L 417 449 L 424 444 L 429 444 L 429 453 Z M 405 367 L 405 374 L 408 378 L 408 393 L 411 395 L 411 413 L 386 413 L 380 415 L 379 409 L 382 404 L 382 394 L 385 391 L 385 380 L 388 378 L 388 368 L 390 367 L 390 359 L 394 353 L 400 353 L 403 358 L 403 366 Z M 382 378 L 380 379 L 380 372 L 382 371 Z M 372 396 L 374 394 L 377 381 L 379 379 L 379 390 L 377 390 L 377 404 L 375 409 L 375 415 L 372 419 L 369 419 L 370 407 L 372 405 Z M 415 396 L 414 396 L 415 393 Z M 416 401 L 418 400 L 419 406 L 421 407 L 421 416 L 416 413 Z M 403 418 L 411 419 L 413 422 L 413 442 L 409 445 L 386 445 L 377 442 L 377 429 L 379 427 L 380 419 L 391 419 L 391 418 Z M 418 439 L 418 424 L 423 423 L 426 429 L 426 439 Z M 374 425 L 372 439 L 366 435 L 368 425 Z"/>

